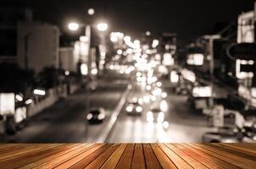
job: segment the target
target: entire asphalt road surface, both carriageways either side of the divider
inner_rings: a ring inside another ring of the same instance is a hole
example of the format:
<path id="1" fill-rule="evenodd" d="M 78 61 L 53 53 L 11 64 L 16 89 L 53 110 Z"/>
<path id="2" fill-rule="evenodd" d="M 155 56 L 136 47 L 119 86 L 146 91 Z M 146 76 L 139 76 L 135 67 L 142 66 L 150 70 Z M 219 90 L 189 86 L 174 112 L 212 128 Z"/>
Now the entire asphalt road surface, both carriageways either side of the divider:
<path id="1" fill-rule="evenodd" d="M 47 110 L 32 117 L 28 126 L 7 142 L 19 143 L 75 143 L 97 142 L 108 126 L 114 109 L 119 105 L 128 81 L 125 79 L 103 79 L 97 81 L 97 90 L 90 95 L 90 107 L 103 107 L 106 118 L 102 124 L 86 127 L 86 90 L 81 89 L 65 101 L 59 101 Z M 114 123 L 106 142 L 111 143 L 155 143 L 155 142 L 201 142 L 204 132 L 209 131 L 206 119 L 192 112 L 186 103 L 186 95 L 175 95 L 170 90 L 170 82 L 164 81 L 162 90 L 167 97 L 143 103 L 142 116 L 128 116 L 125 106 Z M 128 94 L 142 98 L 148 91 L 141 85 L 133 85 Z M 127 101 L 126 101 L 127 102 Z M 164 106 L 164 123 L 147 122 L 150 106 Z"/>

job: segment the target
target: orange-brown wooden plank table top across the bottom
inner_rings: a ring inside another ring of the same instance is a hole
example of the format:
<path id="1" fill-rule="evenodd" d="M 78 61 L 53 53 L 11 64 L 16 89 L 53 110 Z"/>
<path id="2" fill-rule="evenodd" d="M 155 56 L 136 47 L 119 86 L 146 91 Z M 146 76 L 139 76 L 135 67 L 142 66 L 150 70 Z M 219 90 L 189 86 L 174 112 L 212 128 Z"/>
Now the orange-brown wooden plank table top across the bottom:
<path id="1" fill-rule="evenodd" d="M 0 168 L 256 168 L 256 144 L 0 144 Z"/>

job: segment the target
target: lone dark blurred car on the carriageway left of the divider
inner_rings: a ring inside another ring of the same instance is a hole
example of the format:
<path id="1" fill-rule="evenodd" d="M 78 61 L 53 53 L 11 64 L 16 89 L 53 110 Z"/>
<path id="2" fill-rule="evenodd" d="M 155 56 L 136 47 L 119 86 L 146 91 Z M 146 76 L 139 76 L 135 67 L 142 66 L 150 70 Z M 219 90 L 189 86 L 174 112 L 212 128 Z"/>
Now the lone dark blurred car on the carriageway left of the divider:
<path id="1" fill-rule="evenodd" d="M 86 119 L 90 124 L 103 123 L 106 117 L 105 110 L 103 108 L 92 108 L 88 113 Z"/>

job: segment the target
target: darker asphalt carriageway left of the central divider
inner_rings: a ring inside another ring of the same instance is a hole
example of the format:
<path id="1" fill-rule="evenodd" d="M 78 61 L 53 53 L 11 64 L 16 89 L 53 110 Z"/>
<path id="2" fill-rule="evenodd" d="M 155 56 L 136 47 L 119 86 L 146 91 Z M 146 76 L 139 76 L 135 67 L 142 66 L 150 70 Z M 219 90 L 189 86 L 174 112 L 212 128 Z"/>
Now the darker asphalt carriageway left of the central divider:
<path id="1" fill-rule="evenodd" d="M 86 90 L 81 89 L 70 95 L 65 101 L 32 117 L 28 126 L 14 136 L 8 136 L 7 142 L 18 143 L 75 143 L 95 142 L 109 120 L 111 112 L 117 106 L 127 83 L 120 80 L 97 83 L 97 90 L 90 95 L 90 107 L 104 107 L 106 119 L 100 125 L 86 128 Z"/>

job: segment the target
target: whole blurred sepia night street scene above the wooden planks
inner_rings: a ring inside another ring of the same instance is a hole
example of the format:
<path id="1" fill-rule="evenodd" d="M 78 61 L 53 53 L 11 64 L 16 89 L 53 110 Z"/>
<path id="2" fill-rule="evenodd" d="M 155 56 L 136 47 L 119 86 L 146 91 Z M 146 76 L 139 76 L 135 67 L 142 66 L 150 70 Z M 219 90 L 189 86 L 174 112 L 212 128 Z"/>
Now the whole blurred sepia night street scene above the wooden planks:
<path id="1" fill-rule="evenodd" d="M 9 0 L 0 143 L 254 143 L 255 16 L 249 1 Z"/>

